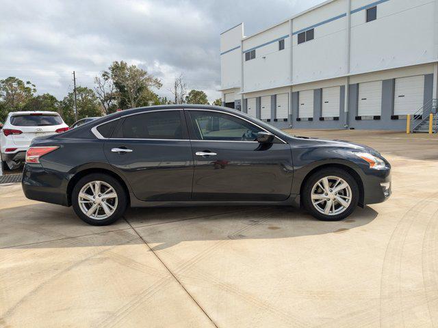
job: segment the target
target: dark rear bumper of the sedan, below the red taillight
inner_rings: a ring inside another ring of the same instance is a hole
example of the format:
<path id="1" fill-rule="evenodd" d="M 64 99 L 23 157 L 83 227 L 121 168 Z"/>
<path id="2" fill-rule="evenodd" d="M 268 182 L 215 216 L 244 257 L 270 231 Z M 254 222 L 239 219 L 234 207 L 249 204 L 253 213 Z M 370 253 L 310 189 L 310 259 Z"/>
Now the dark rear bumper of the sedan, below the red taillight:
<path id="1" fill-rule="evenodd" d="M 40 164 L 25 164 L 21 186 L 29 200 L 69 206 L 64 174 L 48 174 Z"/>

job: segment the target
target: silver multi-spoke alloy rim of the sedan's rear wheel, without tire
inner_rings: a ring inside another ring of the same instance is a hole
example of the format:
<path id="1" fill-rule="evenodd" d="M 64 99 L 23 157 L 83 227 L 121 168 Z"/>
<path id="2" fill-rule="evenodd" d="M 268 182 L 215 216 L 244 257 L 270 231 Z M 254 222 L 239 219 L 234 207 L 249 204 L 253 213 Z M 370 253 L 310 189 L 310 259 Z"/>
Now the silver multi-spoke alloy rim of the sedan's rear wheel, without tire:
<path id="1" fill-rule="evenodd" d="M 104 181 L 85 184 L 78 195 L 79 208 L 91 219 L 107 219 L 116 211 L 118 204 L 114 188 Z"/>

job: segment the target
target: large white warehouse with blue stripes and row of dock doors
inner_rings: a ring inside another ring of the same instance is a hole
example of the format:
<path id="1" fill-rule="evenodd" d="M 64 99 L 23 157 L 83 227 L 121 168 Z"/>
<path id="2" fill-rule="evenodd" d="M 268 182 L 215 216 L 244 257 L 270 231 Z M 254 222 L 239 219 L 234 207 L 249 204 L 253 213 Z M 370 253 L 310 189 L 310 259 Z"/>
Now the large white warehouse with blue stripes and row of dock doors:
<path id="1" fill-rule="evenodd" d="M 329 0 L 220 35 L 222 105 L 279 128 L 404 130 L 438 98 L 438 0 Z M 434 105 L 435 104 L 435 105 Z"/>

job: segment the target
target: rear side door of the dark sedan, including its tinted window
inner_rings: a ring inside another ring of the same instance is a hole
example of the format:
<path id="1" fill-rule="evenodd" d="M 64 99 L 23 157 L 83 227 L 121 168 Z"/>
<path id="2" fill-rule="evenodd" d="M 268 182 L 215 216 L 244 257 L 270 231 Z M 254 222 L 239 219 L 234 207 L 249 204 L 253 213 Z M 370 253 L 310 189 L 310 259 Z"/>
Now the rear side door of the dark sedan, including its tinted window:
<path id="1" fill-rule="evenodd" d="M 178 117 L 175 118 L 166 111 L 156 111 L 156 115 L 145 119 L 140 115 L 152 113 L 135 115 L 130 122 L 127 122 L 128 116 L 120 123 L 120 126 L 127 127 L 127 131 L 123 131 L 119 139 L 105 141 L 104 152 L 107 160 L 123 174 L 139 200 L 190 200 L 193 178 L 192 149 L 187 139 L 187 127 L 182 112 L 176 112 L 182 126 L 175 124 Z M 145 137 L 144 133 L 148 134 L 146 137 L 149 139 L 142 139 Z M 173 136 L 175 139 L 162 139 Z M 114 148 L 132 151 L 114 152 Z"/>

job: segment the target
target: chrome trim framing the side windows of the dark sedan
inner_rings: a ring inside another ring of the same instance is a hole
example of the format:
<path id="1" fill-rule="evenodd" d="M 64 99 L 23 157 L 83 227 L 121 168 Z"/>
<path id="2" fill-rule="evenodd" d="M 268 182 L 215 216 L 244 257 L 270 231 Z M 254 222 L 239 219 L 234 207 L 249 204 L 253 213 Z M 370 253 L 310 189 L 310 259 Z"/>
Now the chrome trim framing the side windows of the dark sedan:
<path id="1" fill-rule="evenodd" d="M 107 124 L 110 122 L 113 122 L 115 120 L 120 120 L 122 118 L 127 118 L 128 116 L 132 116 L 132 115 L 140 115 L 140 114 L 144 114 L 144 113 L 153 113 L 155 111 L 214 111 L 216 113 L 223 113 L 223 114 L 227 114 L 227 115 L 231 115 L 234 116 L 235 118 L 239 118 L 240 120 L 244 120 L 246 122 L 248 122 L 249 124 L 253 124 L 255 126 L 257 126 L 257 128 L 260 128 L 262 131 L 265 131 L 267 133 L 271 133 L 270 131 L 266 130 L 266 128 L 263 128 L 261 126 L 259 126 L 258 124 L 255 124 L 254 122 L 251 122 L 250 120 L 246 120 L 246 118 L 242 118 L 239 115 L 235 115 L 233 113 L 228 113 L 227 111 L 218 111 L 216 109 L 196 109 L 196 108 L 188 108 L 188 109 L 154 109 L 152 111 L 140 111 L 139 113 L 132 113 L 132 114 L 128 114 L 128 115 L 124 115 L 120 118 L 114 118 L 114 120 L 110 120 L 107 122 L 103 122 L 101 124 L 98 124 L 96 126 L 93 126 L 91 128 L 91 132 L 96 136 L 97 139 L 103 139 L 103 140 L 146 140 L 146 141 L 152 141 L 152 140 L 157 140 L 157 141 L 207 141 L 207 142 L 257 142 L 258 141 L 244 141 L 244 140 L 196 140 L 196 139 L 190 139 L 190 137 L 188 139 L 131 139 L 131 138 L 105 138 L 103 137 L 103 135 L 101 135 L 101 133 L 99 133 L 99 131 L 97 131 L 97 128 L 103 124 Z M 278 135 L 276 135 L 275 133 L 272 133 L 276 138 L 280 139 L 281 141 L 283 141 L 283 143 L 287 143 L 286 141 L 284 141 L 283 139 L 281 139 L 281 137 L 279 137 Z"/>

